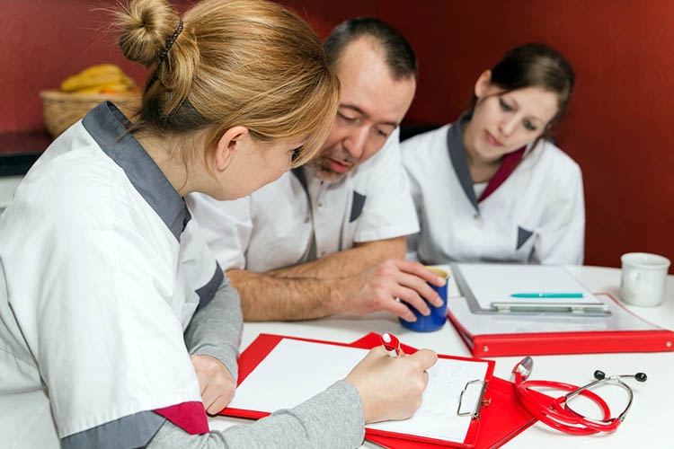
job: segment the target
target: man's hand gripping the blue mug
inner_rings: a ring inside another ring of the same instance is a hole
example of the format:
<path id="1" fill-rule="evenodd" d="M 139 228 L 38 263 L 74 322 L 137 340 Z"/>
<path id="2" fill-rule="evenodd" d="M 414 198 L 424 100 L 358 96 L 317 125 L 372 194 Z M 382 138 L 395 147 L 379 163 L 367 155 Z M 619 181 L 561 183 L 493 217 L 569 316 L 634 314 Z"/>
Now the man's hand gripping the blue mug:
<path id="1" fill-rule="evenodd" d="M 371 313 L 387 310 L 406 321 L 416 321 L 410 309 L 396 300 L 400 298 L 423 315 L 430 309 L 423 301 L 435 306 L 442 299 L 426 282 L 436 286 L 445 284 L 445 279 L 412 260 L 389 259 L 350 279 L 350 291 L 346 293 L 341 313 Z"/>

